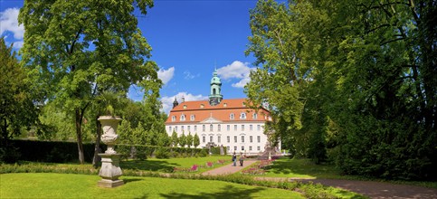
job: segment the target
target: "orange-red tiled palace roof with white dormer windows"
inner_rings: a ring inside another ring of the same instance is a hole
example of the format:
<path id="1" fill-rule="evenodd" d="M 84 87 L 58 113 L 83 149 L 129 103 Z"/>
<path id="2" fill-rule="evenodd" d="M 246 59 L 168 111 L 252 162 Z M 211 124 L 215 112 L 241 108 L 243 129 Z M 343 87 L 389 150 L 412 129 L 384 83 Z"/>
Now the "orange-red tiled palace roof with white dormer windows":
<path id="1" fill-rule="evenodd" d="M 270 112 L 267 109 L 258 109 L 258 117 L 253 118 L 253 113 L 255 113 L 256 110 L 248 108 L 245 104 L 246 99 L 222 100 L 222 102 L 216 106 L 211 106 L 208 100 L 185 101 L 170 110 L 166 124 L 201 122 L 210 117 L 222 120 L 223 122 L 268 120 Z M 245 119 L 240 118 L 242 113 L 246 113 Z M 234 119 L 230 118 L 231 114 L 234 114 Z M 185 115 L 184 121 L 180 120 L 182 115 Z M 194 120 L 191 120 L 192 115 L 195 116 Z M 175 121 L 172 121 L 173 116 L 176 116 Z"/>

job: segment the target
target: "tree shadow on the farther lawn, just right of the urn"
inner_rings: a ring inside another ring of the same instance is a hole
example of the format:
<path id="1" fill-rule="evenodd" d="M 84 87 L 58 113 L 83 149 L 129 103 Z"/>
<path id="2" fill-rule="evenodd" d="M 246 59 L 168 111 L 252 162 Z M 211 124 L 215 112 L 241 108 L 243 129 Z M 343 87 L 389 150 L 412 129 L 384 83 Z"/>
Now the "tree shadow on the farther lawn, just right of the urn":
<path id="1" fill-rule="evenodd" d="M 166 160 L 128 160 L 119 163 L 121 168 L 146 171 L 172 172 L 173 167 L 180 166 L 175 163 L 169 163 Z"/>

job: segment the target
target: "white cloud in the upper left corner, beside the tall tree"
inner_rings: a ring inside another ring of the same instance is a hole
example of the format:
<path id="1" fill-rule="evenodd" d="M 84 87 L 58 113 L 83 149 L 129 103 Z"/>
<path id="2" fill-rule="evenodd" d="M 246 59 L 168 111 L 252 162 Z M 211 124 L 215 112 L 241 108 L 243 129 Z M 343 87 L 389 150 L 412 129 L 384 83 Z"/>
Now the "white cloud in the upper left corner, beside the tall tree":
<path id="1" fill-rule="evenodd" d="M 19 8 L 7 8 L 4 12 L 0 12 L 0 35 L 6 31 L 14 33 L 14 39 L 23 40 L 24 26 L 18 25 Z"/>

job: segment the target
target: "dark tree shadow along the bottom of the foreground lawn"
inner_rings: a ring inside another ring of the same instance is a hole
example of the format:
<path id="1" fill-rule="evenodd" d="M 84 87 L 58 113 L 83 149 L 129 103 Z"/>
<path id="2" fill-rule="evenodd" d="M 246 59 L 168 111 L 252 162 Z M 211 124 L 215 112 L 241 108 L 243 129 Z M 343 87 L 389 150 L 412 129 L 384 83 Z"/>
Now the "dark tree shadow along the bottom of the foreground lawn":
<path id="1" fill-rule="evenodd" d="M 164 198 L 252 198 L 252 194 L 265 190 L 266 188 L 254 187 L 252 189 L 242 189 L 234 187 L 233 185 L 226 185 L 219 192 L 205 193 L 199 192 L 197 194 L 185 193 L 170 193 L 160 194 Z M 143 196 L 146 198 L 147 196 Z"/>

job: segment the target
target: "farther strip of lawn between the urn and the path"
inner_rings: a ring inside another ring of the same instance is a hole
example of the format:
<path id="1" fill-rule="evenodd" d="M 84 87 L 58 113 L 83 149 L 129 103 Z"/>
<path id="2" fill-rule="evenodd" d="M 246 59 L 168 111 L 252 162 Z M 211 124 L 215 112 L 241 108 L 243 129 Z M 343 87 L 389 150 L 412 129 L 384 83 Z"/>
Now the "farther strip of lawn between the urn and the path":
<path id="1" fill-rule="evenodd" d="M 217 160 L 226 160 L 226 164 L 230 164 L 228 156 L 203 156 L 203 157 L 181 157 L 169 159 L 148 158 L 147 160 L 128 160 L 121 161 L 121 169 L 146 170 L 158 172 L 172 172 L 174 167 L 191 167 L 193 165 L 205 166 L 207 162 L 214 163 L 211 168 L 200 168 L 195 173 L 202 173 L 223 165 L 217 164 Z"/>

